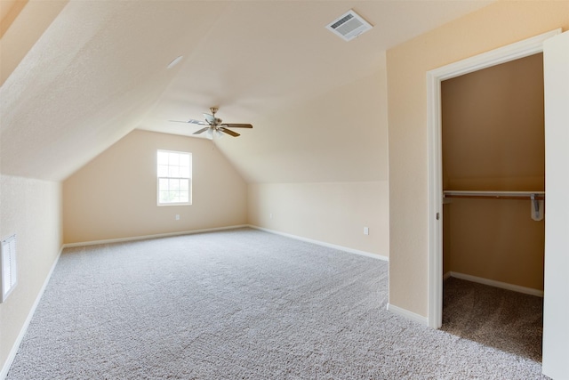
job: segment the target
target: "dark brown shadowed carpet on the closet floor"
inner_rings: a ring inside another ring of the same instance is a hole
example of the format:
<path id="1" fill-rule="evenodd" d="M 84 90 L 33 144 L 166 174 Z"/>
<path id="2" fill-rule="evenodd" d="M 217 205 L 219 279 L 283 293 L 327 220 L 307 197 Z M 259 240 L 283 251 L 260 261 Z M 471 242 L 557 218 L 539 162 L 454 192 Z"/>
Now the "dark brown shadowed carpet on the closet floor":
<path id="1" fill-rule="evenodd" d="M 541 362 L 543 298 L 446 279 L 441 329 Z"/>

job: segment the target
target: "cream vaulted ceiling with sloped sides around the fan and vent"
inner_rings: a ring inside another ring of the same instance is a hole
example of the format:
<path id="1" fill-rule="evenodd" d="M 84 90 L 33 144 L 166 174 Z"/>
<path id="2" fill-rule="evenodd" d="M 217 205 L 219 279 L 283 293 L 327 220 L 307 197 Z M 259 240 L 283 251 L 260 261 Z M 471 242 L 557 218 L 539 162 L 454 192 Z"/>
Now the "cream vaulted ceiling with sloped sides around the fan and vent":
<path id="1" fill-rule="evenodd" d="M 60 181 L 134 128 L 191 135 L 168 120 L 220 106 L 254 125 L 213 141 L 249 182 L 386 179 L 385 50 L 490 3 L 0 2 L 18 11 L 0 45 L 2 174 Z M 325 25 L 349 9 L 374 28 L 345 42 Z"/>

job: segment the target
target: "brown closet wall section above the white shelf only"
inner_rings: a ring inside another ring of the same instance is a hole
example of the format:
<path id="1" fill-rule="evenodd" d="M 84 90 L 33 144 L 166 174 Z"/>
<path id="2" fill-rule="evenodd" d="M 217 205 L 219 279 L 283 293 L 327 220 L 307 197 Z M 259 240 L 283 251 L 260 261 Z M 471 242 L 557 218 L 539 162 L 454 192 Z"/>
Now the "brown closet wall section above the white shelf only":
<path id="1" fill-rule="evenodd" d="M 445 190 L 544 190 L 543 54 L 441 84 Z"/>

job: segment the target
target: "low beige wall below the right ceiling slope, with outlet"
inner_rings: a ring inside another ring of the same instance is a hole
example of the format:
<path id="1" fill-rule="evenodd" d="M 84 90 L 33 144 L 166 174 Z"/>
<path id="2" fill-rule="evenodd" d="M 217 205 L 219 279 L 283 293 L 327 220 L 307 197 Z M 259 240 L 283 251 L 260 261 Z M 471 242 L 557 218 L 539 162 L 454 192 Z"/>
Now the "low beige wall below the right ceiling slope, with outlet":
<path id="1" fill-rule="evenodd" d="M 253 183 L 249 185 L 249 222 L 389 256 L 388 190 L 387 181 Z M 369 235 L 364 235 L 364 227 Z"/>

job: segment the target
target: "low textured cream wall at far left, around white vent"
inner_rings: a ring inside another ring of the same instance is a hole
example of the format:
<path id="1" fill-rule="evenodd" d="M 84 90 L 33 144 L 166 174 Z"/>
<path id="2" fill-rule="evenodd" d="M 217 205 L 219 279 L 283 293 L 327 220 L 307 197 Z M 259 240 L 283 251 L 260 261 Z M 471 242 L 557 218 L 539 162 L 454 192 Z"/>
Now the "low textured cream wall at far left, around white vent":
<path id="1" fill-rule="evenodd" d="M 60 183 L 0 175 L 0 239 L 12 234 L 18 283 L 0 303 L 0 370 L 60 253 Z"/>

